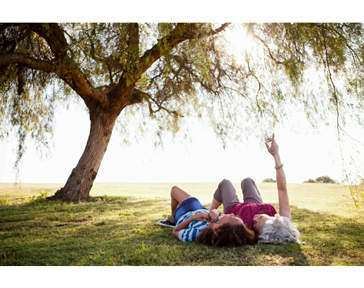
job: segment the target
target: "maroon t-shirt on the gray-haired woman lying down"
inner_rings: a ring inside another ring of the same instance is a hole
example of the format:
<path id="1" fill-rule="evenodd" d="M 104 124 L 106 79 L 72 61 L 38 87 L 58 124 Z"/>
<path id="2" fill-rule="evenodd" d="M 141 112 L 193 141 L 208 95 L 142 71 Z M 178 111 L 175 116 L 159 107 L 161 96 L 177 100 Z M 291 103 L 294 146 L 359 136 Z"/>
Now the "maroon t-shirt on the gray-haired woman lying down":
<path id="1" fill-rule="evenodd" d="M 262 211 L 260 210 L 262 209 Z M 257 214 L 266 214 L 269 216 L 274 216 L 277 211 L 271 204 L 265 203 L 254 203 L 254 202 L 244 202 L 233 204 L 227 209 L 226 214 L 234 213 L 234 215 L 239 215 L 244 224 L 253 228 L 254 222 L 253 217 Z"/>

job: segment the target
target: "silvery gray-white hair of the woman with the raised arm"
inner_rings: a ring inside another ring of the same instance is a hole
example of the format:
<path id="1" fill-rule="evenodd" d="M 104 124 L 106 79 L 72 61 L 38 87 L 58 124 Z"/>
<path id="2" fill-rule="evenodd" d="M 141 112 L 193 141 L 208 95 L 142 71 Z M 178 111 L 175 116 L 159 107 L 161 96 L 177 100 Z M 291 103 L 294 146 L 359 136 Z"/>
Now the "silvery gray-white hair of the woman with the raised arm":
<path id="1" fill-rule="evenodd" d="M 260 228 L 258 243 L 301 243 L 299 231 L 291 219 L 275 214 Z"/>

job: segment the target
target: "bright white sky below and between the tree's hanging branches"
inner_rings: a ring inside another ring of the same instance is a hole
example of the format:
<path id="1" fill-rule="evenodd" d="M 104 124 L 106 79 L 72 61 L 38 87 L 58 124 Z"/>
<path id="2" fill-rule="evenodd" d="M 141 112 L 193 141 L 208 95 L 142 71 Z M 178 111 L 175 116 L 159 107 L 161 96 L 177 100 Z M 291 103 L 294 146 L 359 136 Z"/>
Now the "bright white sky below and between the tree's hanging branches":
<path id="1" fill-rule="evenodd" d="M 241 35 L 241 34 L 240 34 Z M 236 49 L 249 47 L 244 37 L 230 35 Z M 244 42 L 245 41 L 245 42 Z M 272 128 L 280 145 L 280 156 L 288 183 L 302 183 L 310 178 L 330 176 L 343 180 L 341 152 L 350 154 L 355 141 L 346 137 L 339 149 L 335 125 L 321 125 L 312 130 L 306 115 L 291 113 L 290 125 Z M 195 119 L 189 119 L 189 139 L 177 136 L 165 139 L 163 149 L 155 147 L 146 136 L 144 141 L 122 145 L 122 136 L 113 132 L 109 147 L 95 182 L 220 182 L 229 179 L 240 182 L 250 177 L 255 182 L 275 178 L 273 157 L 266 151 L 264 139 L 249 138 L 245 143 L 223 145 L 212 128 Z M 37 151 L 28 141 L 27 152 L 20 166 L 19 182 L 65 183 L 76 167 L 89 136 L 89 116 L 84 108 L 56 110 L 54 143 L 49 157 Z M 349 125 L 351 136 L 363 141 L 363 128 Z M 361 137 L 361 139 L 360 139 Z M 175 141 L 173 141 L 175 140 Z M 14 136 L 0 142 L 0 182 L 14 182 L 16 160 Z M 363 150 L 364 146 L 359 147 Z M 349 156 L 346 158 L 347 162 Z M 360 162 L 360 160 L 359 160 Z M 361 161 L 363 162 L 363 161 Z"/>

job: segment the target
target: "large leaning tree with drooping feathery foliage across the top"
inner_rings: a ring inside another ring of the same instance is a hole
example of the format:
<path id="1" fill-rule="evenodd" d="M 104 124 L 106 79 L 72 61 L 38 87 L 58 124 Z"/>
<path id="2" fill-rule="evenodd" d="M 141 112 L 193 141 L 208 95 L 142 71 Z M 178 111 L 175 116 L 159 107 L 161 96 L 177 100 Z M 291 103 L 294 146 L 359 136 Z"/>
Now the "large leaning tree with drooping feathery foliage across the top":
<path id="1" fill-rule="evenodd" d="M 240 59 L 231 29 L 251 42 Z M 331 110 L 339 131 L 346 109 L 363 123 L 363 40 L 361 23 L 0 23 L 0 139 L 15 128 L 19 165 L 27 136 L 47 145 L 56 105 L 80 97 L 89 140 L 54 198 L 83 200 L 126 110 L 159 135 L 188 115 L 209 119 L 224 145 L 264 134 L 287 104 L 312 123 Z"/>

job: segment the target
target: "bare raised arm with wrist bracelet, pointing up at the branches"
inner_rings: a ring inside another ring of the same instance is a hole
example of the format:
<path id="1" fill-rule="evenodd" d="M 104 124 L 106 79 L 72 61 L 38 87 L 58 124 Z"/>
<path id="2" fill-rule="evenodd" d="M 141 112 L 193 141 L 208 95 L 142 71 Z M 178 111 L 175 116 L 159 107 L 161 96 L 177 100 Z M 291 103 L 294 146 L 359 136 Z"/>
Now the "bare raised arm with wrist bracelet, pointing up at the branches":
<path id="1" fill-rule="evenodd" d="M 279 147 L 277 142 L 275 142 L 274 137 L 275 135 L 273 133 L 272 138 L 267 139 L 271 143 L 271 146 L 269 146 L 268 143 L 265 143 L 265 145 L 266 149 L 268 149 L 268 152 L 273 156 L 275 161 L 278 201 L 280 203 L 280 215 L 288 217 L 292 221 L 291 208 L 289 206 L 289 199 L 288 199 L 286 175 L 284 174 L 283 165 L 280 158 Z"/>

